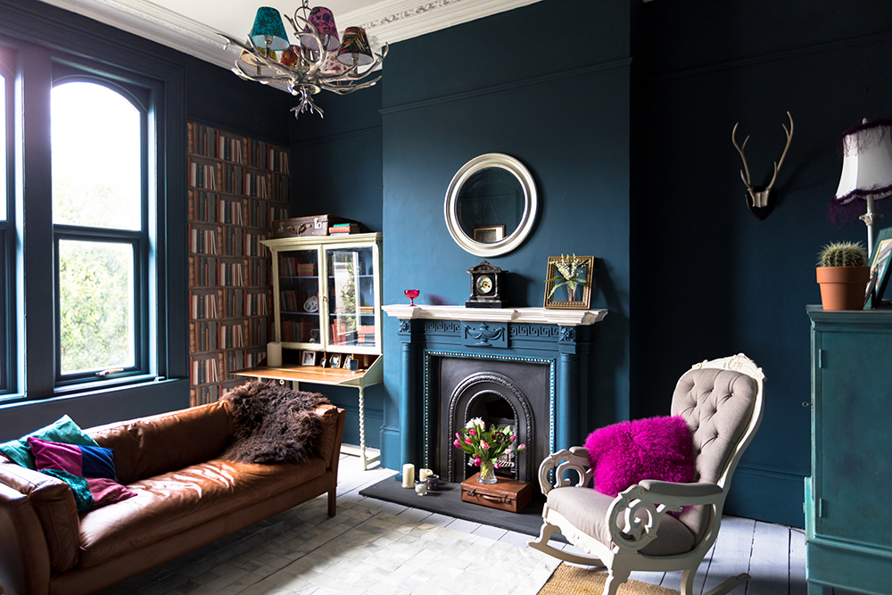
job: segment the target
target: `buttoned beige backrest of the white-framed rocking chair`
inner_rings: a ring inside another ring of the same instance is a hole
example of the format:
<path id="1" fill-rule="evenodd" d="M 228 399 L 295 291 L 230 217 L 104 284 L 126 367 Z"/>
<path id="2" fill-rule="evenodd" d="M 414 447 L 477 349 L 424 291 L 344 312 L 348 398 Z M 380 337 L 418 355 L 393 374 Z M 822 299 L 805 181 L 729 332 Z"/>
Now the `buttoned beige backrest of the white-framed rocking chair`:
<path id="1" fill-rule="evenodd" d="M 762 422 L 764 374 L 742 353 L 696 364 L 675 386 L 672 415 L 684 417 L 697 454 L 695 482 L 717 483 L 715 506 L 685 509 L 679 520 L 701 541 L 714 516 L 722 515 L 731 475 Z M 714 535 L 713 535 L 714 539 Z"/>

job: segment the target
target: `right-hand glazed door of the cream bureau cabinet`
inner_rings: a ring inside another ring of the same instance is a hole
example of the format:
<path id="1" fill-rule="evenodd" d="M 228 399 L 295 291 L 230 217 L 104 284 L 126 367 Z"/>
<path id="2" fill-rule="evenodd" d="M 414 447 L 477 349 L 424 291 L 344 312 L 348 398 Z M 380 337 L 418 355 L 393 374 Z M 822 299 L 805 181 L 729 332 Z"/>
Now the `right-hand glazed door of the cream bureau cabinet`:
<path id="1" fill-rule="evenodd" d="M 326 249 L 327 344 L 332 351 L 380 353 L 376 245 Z"/>

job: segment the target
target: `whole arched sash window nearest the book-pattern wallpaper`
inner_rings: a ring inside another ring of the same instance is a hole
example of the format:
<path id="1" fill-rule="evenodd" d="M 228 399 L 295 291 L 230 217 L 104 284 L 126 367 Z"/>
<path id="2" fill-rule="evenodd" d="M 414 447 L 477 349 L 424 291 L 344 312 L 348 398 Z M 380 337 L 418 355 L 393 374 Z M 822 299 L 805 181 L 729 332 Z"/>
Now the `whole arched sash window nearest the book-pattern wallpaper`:
<path id="1" fill-rule="evenodd" d="M 107 81 L 53 87 L 57 384 L 147 371 L 147 115 Z"/>

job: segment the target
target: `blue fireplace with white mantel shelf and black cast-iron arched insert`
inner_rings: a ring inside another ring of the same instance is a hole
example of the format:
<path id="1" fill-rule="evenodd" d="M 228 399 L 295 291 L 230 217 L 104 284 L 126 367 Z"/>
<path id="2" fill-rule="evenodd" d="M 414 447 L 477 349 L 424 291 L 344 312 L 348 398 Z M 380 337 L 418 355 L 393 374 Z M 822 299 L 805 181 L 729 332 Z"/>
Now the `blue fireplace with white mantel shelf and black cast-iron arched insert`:
<path id="1" fill-rule="evenodd" d="M 471 417 L 513 425 L 528 450 L 502 475 L 535 481 L 549 452 L 581 443 L 595 323 L 607 310 L 389 305 L 400 319 L 401 461 L 460 482 L 476 469 L 452 446 Z"/>

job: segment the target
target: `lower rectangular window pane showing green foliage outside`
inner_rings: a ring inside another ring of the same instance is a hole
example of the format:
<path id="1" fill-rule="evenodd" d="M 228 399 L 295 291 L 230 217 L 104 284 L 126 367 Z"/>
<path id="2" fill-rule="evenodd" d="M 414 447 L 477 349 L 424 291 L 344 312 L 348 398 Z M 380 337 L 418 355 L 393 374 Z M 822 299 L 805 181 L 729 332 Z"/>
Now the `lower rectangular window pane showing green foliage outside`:
<path id="1" fill-rule="evenodd" d="M 135 365 L 133 270 L 130 244 L 59 241 L 63 375 Z"/>

